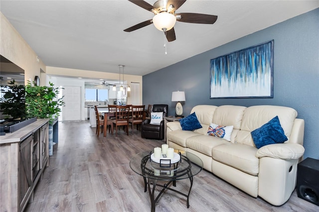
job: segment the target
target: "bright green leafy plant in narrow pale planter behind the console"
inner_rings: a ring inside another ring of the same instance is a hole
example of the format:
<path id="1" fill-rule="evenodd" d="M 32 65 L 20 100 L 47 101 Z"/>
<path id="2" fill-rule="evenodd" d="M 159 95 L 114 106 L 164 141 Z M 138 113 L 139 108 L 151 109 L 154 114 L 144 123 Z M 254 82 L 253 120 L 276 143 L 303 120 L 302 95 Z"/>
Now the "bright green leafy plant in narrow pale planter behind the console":
<path id="1" fill-rule="evenodd" d="M 34 82 L 33 82 L 34 85 Z M 53 154 L 53 121 L 61 112 L 63 97 L 58 98 L 59 88 L 50 86 L 33 86 L 30 81 L 25 86 L 25 108 L 28 117 L 49 118 L 49 156 Z"/>

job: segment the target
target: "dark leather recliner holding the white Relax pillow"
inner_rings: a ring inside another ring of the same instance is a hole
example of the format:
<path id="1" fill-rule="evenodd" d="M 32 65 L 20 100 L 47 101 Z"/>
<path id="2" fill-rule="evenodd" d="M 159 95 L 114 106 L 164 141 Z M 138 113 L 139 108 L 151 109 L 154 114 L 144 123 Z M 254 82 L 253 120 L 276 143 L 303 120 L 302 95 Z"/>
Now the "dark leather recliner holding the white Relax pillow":
<path id="1" fill-rule="evenodd" d="M 163 112 L 163 117 L 167 116 L 168 105 L 153 105 L 152 112 Z M 142 122 L 142 138 L 164 139 L 164 120 L 160 125 L 150 124 L 151 119 L 145 119 Z"/>

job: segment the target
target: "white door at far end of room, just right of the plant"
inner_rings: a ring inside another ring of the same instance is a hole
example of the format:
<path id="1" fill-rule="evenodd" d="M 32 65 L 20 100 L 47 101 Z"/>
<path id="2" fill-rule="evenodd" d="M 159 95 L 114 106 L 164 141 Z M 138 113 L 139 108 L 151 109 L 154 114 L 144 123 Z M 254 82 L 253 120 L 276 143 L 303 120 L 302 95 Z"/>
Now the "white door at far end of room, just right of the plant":
<path id="1" fill-rule="evenodd" d="M 81 87 L 63 86 L 62 121 L 81 120 Z"/>

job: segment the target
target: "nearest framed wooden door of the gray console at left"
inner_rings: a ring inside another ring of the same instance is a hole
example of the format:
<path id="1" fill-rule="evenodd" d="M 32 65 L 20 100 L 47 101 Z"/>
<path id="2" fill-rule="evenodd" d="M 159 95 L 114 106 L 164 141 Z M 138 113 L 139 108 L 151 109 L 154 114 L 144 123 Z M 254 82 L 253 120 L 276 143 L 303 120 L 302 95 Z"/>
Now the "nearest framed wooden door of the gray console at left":
<path id="1" fill-rule="evenodd" d="M 19 160 L 19 203 L 20 208 L 25 204 L 24 197 L 28 197 L 33 185 L 32 181 L 32 141 L 30 135 L 20 143 L 20 160 Z"/>

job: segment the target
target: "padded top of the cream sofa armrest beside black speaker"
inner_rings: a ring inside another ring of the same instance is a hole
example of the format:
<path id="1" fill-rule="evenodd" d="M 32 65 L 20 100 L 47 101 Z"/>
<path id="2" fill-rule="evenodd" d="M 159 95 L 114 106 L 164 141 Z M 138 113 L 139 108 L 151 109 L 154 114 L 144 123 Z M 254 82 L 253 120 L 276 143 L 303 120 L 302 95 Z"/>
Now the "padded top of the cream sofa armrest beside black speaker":
<path id="1" fill-rule="evenodd" d="M 277 143 L 261 147 L 256 152 L 257 158 L 272 157 L 278 159 L 299 159 L 304 155 L 305 148 L 297 143 Z"/>

